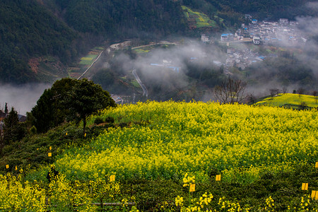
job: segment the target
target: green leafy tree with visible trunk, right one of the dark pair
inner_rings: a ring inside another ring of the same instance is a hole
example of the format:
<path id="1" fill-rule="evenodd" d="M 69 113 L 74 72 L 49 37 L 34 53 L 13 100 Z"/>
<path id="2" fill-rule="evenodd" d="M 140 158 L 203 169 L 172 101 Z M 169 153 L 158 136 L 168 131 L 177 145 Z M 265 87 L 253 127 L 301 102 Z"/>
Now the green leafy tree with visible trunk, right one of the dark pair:
<path id="1" fill-rule="evenodd" d="M 86 133 L 86 119 L 90 114 L 107 107 L 117 106 L 110 97 L 110 93 L 86 78 L 76 81 L 71 90 L 66 93 L 64 105 L 69 110 L 71 119 L 77 122 L 83 120 L 83 134 Z"/>

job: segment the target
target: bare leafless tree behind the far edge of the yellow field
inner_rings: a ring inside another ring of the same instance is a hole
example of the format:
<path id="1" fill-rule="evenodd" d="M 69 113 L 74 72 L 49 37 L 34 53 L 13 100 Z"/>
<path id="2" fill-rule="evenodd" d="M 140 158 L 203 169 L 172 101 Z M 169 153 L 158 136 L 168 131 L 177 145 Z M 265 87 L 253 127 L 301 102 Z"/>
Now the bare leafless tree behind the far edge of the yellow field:
<path id="1" fill-rule="evenodd" d="M 227 78 L 220 86 L 214 88 L 214 93 L 221 103 L 242 103 L 247 99 L 247 95 L 245 95 L 246 86 L 247 83 L 241 80 L 235 81 L 232 78 Z"/>

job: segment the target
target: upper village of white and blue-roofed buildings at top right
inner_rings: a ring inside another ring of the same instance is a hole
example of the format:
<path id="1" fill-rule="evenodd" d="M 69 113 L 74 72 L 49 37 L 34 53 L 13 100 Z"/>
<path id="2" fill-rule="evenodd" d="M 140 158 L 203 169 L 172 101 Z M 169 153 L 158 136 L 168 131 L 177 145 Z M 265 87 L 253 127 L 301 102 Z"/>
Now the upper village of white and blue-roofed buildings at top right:
<path id="1" fill-rule="evenodd" d="M 232 33 L 220 35 L 223 42 L 230 41 L 249 41 L 255 45 L 275 45 L 275 44 L 301 44 L 307 39 L 298 30 L 298 22 L 290 21 L 287 18 L 281 18 L 279 21 L 261 21 L 252 19 L 252 16 L 245 15 L 249 24 L 242 23 L 242 28 L 235 34 Z"/>

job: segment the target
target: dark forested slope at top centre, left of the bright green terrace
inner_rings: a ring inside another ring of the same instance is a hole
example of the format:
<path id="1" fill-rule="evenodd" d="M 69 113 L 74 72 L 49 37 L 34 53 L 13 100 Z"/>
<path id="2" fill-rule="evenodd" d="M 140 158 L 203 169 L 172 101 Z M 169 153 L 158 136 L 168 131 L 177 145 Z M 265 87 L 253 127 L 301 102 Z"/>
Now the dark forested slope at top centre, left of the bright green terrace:
<path id="1" fill-rule="evenodd" d="M 66 23 L 83 33 L 114 38 L 161 37 L 185 28 L 178 1 L 56 1 Z"/>

